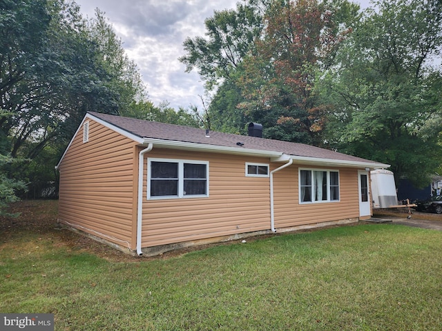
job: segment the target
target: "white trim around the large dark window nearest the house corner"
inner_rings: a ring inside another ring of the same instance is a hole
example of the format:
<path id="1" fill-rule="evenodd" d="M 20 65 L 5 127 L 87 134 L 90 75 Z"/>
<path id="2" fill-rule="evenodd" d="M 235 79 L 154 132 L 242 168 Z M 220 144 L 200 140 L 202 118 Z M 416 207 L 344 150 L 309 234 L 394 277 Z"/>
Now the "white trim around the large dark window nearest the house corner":
<path id="1" fill-rule="evenodd" d="M 151 163 L 152 162 L 169 162 L 178 163 L 178 194 L 151 196 Z M 184 163 L 204 164 L 206 165 L 206 194 L 184 194 Z M 163 159 L 163 158 L 147 158 L 147 192 L 148 200 L 164 200 L 164 199 L 192 199 L 192 198 L 208 198 L 209 197 L 209 161 L 189 160 L 189 159 Z"/>

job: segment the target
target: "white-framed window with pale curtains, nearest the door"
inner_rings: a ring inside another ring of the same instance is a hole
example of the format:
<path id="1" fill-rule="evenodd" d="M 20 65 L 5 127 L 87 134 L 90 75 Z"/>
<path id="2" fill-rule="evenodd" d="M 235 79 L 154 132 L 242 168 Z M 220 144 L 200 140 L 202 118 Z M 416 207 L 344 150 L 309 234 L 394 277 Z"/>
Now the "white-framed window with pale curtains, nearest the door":
<path id="1" fill-rule="evenodd" d="M 338 170 L 299 169 L 299 203 L 339 201 Z"/>

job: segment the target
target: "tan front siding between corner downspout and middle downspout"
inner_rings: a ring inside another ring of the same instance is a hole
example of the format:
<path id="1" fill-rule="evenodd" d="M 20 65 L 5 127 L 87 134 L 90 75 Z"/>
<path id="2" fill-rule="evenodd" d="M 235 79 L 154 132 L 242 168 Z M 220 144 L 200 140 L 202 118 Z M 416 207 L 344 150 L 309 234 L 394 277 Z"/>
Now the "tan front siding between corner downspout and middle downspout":
<path id="1" fill-rule="evenodd" d="M 209 161 L 209 197 L 146 200 L 145 170 L 143 247 L 269 228 L 269 178 L 245 176 L 246 162 L 267 159 L 155 148 L 147 157 Z"/>

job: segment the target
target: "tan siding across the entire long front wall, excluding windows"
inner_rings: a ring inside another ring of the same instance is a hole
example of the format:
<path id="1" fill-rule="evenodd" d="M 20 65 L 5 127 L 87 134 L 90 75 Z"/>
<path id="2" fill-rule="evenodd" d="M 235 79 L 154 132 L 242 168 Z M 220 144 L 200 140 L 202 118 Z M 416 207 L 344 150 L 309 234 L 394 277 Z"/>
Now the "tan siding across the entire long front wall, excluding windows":
<path id="1" fill-rule="evenodd" d="M 209 197 L 146 200 L 145 169 L 142 247 L 269 230 L 270 179 L 246 177 L 245 163 L 269 163 L 270 170 L 281 163 L 272 164 L 269 159 L 258 157 L 158 148 L 147 157 L 209 161 Z M 146 164 L 147 159 L 145 167 Z M 357 170 L 327 170 L 339 171 L 340 201 L 300 204 L 298 166 L 291 165 L 274 174 L 276 228 L 358 217 Z"/>

